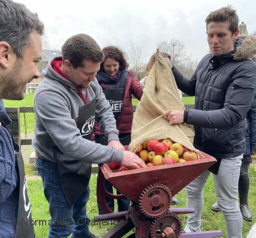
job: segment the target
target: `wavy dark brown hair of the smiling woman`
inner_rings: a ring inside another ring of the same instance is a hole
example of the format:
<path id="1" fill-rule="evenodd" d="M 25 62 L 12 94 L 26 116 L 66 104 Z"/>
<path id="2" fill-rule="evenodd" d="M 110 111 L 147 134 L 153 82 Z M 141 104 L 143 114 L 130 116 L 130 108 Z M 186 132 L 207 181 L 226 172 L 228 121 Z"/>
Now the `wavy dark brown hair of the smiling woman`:
<path id="1" fill-rule="evenodd" d="M 125 59 L 125 54 L 122 52 L 119 48 L 115 46 L 107 46 L 102 49 L 105 59 L 111 58 L 119 63 L 119 70 L 127 69 L 129 67 L 129 64 L 127 63 Z M 103 63 L 100 65 L 100 69 L 103 70 Z"/>

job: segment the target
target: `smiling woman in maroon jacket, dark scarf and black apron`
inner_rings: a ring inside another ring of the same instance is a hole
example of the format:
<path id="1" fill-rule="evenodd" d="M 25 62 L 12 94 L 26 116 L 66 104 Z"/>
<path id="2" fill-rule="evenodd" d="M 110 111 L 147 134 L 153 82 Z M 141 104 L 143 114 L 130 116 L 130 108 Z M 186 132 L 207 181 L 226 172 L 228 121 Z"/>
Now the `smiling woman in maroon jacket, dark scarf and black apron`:
<path id="1" fill-rule="evenodd" d="M 132 94 L 141 100 L 143 89 L 132 70 L 127 70 L 128 63 L 124 53 L 115 46 L 108 46 L 102 49 L 105 59 L 100 65 L 96 75 L 99 85 L 102 87 L 106 99 L 112 107 L 116 120 L 116 128 L 119 130 L 119 140 L 122 145 L 129 145 L 131 142 L 131 131 L 133 124 Z M 95 122 L 95 142 L 107 145 L 104 133 Z M 99 173 L 101 171 L 99 170 Z M 113 193 L 111 183 L 105 181 L 105 188 Z M 119 192 L 117 191 L 117 194 Z M 106 202 L 114 210 L 113 199 L 106 198 Z M 127 198 L 118 199 L 118 211 L 129 209 L 130 201 Z M 99 214 L 103 214 L 98 203 Z"/>

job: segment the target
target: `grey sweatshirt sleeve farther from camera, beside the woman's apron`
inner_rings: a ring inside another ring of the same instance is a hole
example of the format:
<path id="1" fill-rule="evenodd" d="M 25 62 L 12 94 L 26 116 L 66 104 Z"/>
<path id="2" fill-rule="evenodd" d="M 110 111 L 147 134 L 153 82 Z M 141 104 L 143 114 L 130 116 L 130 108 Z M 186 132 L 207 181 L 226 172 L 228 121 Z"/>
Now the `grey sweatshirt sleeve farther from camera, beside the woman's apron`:
<path id="1" fill-rule="evenodd" d="M 107 137 L 107 141 L 119 140 L 118 130 L 116 129 L 116 121 L 112 112 L 112 108 L 109 102 L 106 100 L 102 88 L 100 87 L 98 81 L 95 79 L 94 88 L 96 96 L 96 119 L 99 122 L 100 129 L 104 132 Z"/>

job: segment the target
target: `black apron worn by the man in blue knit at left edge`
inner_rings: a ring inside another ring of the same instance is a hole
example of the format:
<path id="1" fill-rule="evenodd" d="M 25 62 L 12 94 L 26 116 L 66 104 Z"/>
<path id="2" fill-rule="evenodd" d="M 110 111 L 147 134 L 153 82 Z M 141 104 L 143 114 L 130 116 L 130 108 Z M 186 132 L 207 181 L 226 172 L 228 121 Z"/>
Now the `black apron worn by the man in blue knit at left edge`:
<path id="1" fill-rule="evenodd" d="M 0 119 L 0 122 L 2 126 L 4 126 L 8 130 L 5 123 L 1 119 Z M 10 135 L 12 137 L 12 141 L 15 149 L 16 169 L 19 177 L 19 180 L 18 180 L 19 182 L 16 187 L 16 189 L 18 188 L 19 190 L 18 191 L 19 192 L 19 208 L 18 208 L 15 238 L 34 238 L 35 231 L 33 226 L 32 215 L 31 215 L 31 206 L 30 206 L 30 200 L 28 195 L 27 181 L 25 177 L 23 157 L 20 150 L 20 146 L 17 143 L 15 143 L 11 133 Z"/>

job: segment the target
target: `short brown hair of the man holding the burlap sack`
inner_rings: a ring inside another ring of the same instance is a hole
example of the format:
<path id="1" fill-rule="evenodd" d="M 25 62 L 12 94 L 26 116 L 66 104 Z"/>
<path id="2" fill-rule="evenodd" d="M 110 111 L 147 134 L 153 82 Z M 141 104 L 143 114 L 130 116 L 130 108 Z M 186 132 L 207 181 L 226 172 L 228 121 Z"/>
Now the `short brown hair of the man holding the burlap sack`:
<path id="1" fill-rule="evenodd" d="M 227 7 L 211 12 L 207 16 L 205 19 L 206 32 L 207 26 L 211 22 L 229 22 L 229 31 L 234 34 L 238 29 L 239 18 L 232 6 L 228 5 Z"/>

